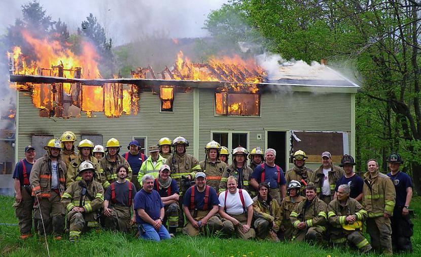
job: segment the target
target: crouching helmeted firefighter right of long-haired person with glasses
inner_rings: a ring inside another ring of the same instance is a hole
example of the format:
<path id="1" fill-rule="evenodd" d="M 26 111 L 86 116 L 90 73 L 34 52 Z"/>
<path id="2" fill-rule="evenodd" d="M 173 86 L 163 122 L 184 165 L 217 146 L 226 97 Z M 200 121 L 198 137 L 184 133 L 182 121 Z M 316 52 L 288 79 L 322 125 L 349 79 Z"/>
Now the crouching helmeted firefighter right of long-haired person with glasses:
<path id="1" fill-rule="evenodd" d="M 288 183 L 288 196 L 280 203 L 280 210 L 282 213 L 282 224 L 279 229 L 280 240 L 291 240 L 294 227 L 290 221 L 290 214 L 294 207 L 305 200 L 305 197 L 300 195 L 301 183 L 297 180 L 291 180 Z"/>

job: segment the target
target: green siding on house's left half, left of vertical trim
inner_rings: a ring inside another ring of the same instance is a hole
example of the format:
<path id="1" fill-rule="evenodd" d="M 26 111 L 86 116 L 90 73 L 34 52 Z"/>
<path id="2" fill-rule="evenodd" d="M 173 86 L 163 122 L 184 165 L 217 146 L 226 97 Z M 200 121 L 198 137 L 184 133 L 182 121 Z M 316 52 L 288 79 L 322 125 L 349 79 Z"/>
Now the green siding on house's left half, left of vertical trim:
<path id="1" fill-rule="evenodd" d="M 120 141 L 120 153 L 127 152 L 127 144 L 133 137 L 147 137 L 147 146 L 157 144 L 161 137 L 171 139 L 184 136 L 191 142 L 187 152 L 193 154 L 193 93 L 176 92 L 174 112 L 160 112 L 159 95 L 142 92 L 138 101 L 137 115 L 122 115 L 120 118 L 107 118 L 101 112 L 92 113 L 92 118 L 82 112 L 81 118 L 41 118 L 40 109 L 32 104 L 28 92 L 19 92 L 17 106 L 18 155 L 24 157 L 24 148 L 31 144 L 32 135 L 53 134 L 59 137 L 64 131 L 76 133 L 79 142 L 81 134 L 99 134 L 103 136 L 105 146 L 108 139 L 115 137 Z M 146 151 L 147 153 L 147 151 Z M 37 155 L 37 158 L 41 155 Z"/>

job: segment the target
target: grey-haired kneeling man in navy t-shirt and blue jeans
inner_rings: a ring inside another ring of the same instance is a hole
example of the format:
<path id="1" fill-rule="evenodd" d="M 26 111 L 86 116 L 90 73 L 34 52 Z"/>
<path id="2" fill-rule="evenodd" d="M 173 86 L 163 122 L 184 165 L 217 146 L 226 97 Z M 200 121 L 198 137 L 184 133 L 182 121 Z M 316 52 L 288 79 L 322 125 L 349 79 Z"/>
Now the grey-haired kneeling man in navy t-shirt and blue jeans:
<path id="1" fill-rule="evenodd" d="M 162 226 L 164 218 L 164 203 L 154 188 L 154 177 L 146 174 L 142 177 L 142 190 L 134 197 L 134 210 L 136 212 L 139 238 L 145 240 L 161 241 L 170 239 L 167 229 Z"/>

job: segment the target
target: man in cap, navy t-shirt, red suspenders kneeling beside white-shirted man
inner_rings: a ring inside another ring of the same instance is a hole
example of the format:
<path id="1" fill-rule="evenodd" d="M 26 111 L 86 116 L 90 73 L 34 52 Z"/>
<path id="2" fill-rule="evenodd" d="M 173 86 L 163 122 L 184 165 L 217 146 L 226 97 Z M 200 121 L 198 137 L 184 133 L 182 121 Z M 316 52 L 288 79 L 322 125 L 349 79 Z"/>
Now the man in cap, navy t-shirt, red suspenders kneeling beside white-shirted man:
<path id="1" fill-rule="evenodd" d="M 197 172 L 196 186 L 189 188 L 183 198 L 183 210 L 187 225 L 183 232 L 197 236 L 200 232 L 213 233 L 221 229 L 222 221 L 218 213 L 219 200 L 213 187 L 206 185 L 206 174 Z"/>

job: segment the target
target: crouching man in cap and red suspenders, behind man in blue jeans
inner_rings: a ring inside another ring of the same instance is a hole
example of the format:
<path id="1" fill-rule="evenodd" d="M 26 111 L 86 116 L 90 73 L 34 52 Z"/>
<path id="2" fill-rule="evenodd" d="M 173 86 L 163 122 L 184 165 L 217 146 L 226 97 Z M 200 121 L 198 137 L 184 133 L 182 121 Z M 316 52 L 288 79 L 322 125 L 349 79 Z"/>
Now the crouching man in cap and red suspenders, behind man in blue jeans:
<path id="1" fill-rule="evenodd" d="M 159 175 L 154 182 L 154 190 L 158 191 L 164 203 L 165 216 L 163 224 L 165 225 L 168 221 L 168 232 L 174 236 L 179 226 L 180 190 L 176 179 L 172 179 L 169 176 L 170 173 L 171 169 L 168 165 L 164 164 L 159 168 Z"/>

